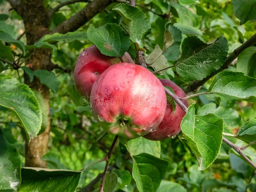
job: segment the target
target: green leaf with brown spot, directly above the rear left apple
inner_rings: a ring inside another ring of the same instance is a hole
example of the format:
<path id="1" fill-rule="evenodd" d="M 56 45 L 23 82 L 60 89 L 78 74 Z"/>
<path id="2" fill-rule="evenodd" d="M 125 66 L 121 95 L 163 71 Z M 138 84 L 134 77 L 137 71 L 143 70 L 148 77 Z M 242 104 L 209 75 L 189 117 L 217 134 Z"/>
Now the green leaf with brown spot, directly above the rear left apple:
<path id="1" fill-rule="evenodd" d="M 130 46 L 127 34 L 119 25 L 113 23 L 99 28 L 91 25 L 87 30 L 87 36 L 102 54 L 112 57 L 122 57 Z"/>

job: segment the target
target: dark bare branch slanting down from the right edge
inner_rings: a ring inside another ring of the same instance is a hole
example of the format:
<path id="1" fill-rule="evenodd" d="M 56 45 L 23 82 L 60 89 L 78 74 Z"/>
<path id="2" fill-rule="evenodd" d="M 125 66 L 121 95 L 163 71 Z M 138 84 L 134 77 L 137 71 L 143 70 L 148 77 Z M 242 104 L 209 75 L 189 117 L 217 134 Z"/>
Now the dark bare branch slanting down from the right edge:
<path id="1" fill-rule="evenodd" d="M 256 43 L 256 34 L 254 34 L 250 39 L 248 39 L 246 42 L 244 42 L 244 44 L 242 44 L 240 47 L 238 47 L 237 49 L 235 49 L 234 52 L 232 52 L 226 62 L 222 65 L 222 67 L 217 70 L 216 72 L 212 73 L 211 75 L 207 76 L 206 78 L 204 78 L 203 80 L 200 81 L 194 81 L 192 83 L 190 83 L 187 87 L 187 89 L 185 90 L 185 92 L 194 92 L 198 89 L 198 87 L 202 86 L 206 81 L 208 81 L 212 76 L 218 74 L 219 72 L 221 72 L 222 70 L 224 70 L 225 68 L 228 68 L 228 66 L 232 63 L 233 60 L 235 60 L 237 58 L 237 56 L 244 51 L 246 48 L 254 45 Z"/>

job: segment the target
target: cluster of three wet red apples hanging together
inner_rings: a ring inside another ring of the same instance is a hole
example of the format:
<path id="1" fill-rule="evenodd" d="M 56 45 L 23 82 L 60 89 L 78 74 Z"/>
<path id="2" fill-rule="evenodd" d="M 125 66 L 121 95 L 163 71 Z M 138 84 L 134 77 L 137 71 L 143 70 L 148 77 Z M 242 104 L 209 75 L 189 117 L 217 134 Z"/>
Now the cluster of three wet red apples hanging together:
<path id="1" fill-rule="evenodd" d="M 185 92 L 172 81 L 159 80 L 135 65 L 127 52 L 122 60 L 103 55 L 92 45 L 76 61 L 76 89 L 90 100 L 97 122 L 106 132 L 128 139 L 164 140 L 177 135 L 185 113 L 178 105 L 173 113 L 164 86 L 179 97 L 185 97 Z M 188 106 L 187 101 L 182 102 Z"/>

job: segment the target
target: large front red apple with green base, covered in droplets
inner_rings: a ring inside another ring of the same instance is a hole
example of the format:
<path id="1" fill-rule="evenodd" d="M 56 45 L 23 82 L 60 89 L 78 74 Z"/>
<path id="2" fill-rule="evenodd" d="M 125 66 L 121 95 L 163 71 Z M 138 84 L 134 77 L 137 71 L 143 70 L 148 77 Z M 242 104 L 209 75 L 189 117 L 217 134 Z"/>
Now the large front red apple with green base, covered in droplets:
<path id="1" fill-rule="evenodd" d="M 93 116 L 106 132 L 135 139 L 158 127 L 166 95 L 162 83 L 148 69 L 118 63 L 95 81 L 90 103 Z"/>

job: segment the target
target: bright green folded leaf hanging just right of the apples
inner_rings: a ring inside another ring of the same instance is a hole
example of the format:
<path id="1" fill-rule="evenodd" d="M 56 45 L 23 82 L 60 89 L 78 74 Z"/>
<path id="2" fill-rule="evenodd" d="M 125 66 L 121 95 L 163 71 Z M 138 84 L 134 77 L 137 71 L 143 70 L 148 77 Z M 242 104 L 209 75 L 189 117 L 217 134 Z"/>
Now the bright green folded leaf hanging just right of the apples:
<path id="1" fill-rule="evenodd" d="M 198 170 L 209 167 L 219 154 L 223 123 L 223 120 L 214 114 L 195 116 L 194 105 L 188 107 L 180 126 L 188 145 L 196 154 Z"/>

